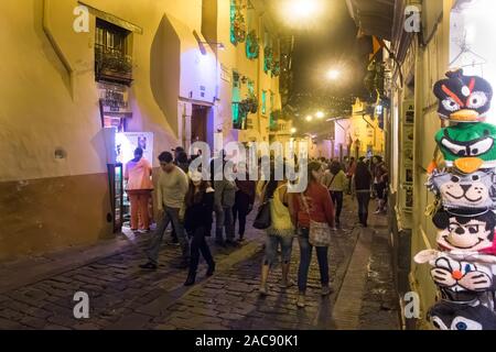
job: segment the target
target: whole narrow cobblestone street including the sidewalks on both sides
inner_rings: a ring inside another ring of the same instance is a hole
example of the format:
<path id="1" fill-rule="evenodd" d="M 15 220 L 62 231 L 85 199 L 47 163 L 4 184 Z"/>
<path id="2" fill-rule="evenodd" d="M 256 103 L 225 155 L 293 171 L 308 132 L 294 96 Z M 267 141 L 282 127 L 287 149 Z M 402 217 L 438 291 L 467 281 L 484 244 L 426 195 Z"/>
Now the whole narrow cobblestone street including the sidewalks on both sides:
<path id="1" fill-rule="evenodd" d="M 44 264 L 51 270 L 45 275 L 37 273 L 37 279 L 29 275 L 34 270 L 30 266 L 33 261 L 3 265 L 0 329 L 399 329 L 386 219 L 371 216 L 373 229 L 355 228 L 355 206 L 351 199 L 345 204 L 344 229 L 335 232 L 330 249 L 334 293 L 321 298 L 319 267 L 313 257 L 304 309 L 294 304 L 295 286 L 279 288 L 279 265 L 269 278 L 269 296 L 259 296 L 263 255 L 260 231 L 250 229 L 239 249 L 219 250 L 212 244 L 217 272 L 206 279 L 205 266 L 201 265 L 197 285 L 192 288 L 183 286 L 186 272 L 172 268 L 177 246 L 164 244 L 157 272 L 138 267 L 148 243 L 149 235 L 143 235 L 126 240 L 127 245 L 120 244 L 117 253 L 107 256 L 78 261 L 78 254 L 65 254 L 80 263 L 76 267 L 61 264 L 65 256 L 58 253 L 54 256 L 57 260 Z M 368 245 L 362 248 L 368 237 Z M 367 256 L 360 257 L 364 253 Z M 43 264 L 47 260 L 40 261 Z M 294 241 L 293 279 L 298 263 Z M 15 276 L 17 282 L 7 280 Z M 73 297 L 77 292 L 89 295 L 89 319 L 74 318 Z"/>

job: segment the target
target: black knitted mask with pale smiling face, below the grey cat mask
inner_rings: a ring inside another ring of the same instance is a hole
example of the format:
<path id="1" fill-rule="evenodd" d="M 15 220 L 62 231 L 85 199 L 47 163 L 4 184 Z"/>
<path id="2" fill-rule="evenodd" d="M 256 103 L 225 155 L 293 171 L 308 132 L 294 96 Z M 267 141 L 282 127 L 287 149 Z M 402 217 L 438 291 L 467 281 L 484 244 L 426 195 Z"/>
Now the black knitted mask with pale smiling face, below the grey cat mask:
<path id="1" fill-rule="evenodd" d="M 432 219 L 438 231 L 438 245 L 443 251 L 479 252 L 493 248 L 496 216 L 486 210 L 440 210 Z"/>

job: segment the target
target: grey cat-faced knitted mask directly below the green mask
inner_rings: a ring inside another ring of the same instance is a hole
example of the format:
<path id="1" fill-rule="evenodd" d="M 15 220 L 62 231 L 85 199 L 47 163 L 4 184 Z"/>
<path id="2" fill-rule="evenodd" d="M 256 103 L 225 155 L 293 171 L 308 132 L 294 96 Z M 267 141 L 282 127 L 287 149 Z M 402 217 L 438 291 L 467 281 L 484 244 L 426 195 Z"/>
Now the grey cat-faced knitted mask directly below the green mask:
<path id="1" fill-rule="evenodd" d="M 471 175 L 433 173 L 427 186 L 440 195 L 445 209 L 493 209 L 495 202 L 494 173 Z"/>

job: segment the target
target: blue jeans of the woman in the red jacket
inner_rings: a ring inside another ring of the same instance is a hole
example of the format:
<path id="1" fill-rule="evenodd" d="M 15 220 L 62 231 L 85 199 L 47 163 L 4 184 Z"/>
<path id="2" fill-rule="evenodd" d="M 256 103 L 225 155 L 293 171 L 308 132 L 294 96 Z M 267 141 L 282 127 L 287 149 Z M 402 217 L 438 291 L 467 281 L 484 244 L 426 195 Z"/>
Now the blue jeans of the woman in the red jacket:
<path id="1" fill-rule="evenodd" d="M 300 293 L 306 292 L 306 282 L 309 279 L 310 263 L 312 263 L 313 245 L 309 242 L 309 229 L 299 229 L 298 241 L 300 242 L 300 268 L 298 271 L 298 288 Z M 315 248 L 317 253 L 319 270 L 321 272 L 322 286 L 328 285 L 328 261 L 326 246 Z"/>

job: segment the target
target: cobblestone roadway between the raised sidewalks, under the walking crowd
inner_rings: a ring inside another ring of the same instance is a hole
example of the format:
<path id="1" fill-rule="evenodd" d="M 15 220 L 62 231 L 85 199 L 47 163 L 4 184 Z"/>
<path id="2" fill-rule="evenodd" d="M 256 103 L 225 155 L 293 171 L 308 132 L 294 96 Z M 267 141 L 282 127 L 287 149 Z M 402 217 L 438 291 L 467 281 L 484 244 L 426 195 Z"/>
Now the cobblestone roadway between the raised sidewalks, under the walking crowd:
<path id="1" fill-rule="evenodd" d="M 335 233 L 330 250 L 335 293 L 321 298 L 314 255 L 304 309 L 294 305 L 296 287 L 279 288 L 279 265 L 270 276 L 270 295 L 259 297 L 263 233 L 250 229 L 248 241 L 240 249 L 211 245 L 218 263 L 217 273 L 204 278 L 205 265 L 201 264 L 197 285 L 192 288 L 183 286 L 186 271 L 173 268 L 180 253 L 177 246 L 163 246 L 157 272 L 138 267 L 148 243 L 148 237 L 143 237 L 136 246 L 119 254 L 1 293 L 0 329 L 333 329 L 333 304 L 359 234 L 353 226 L 353 209 L 347 201 L 343 215 L 345 229 Z M 294 279 L 298 261 L 294 241 L 291 273 Z M 371 268 L 387 270 L 374 265 Z M 89 319 L 74 318 L 76 292 L 89 295 Z M 367 320 L 365 312 L 364 317 Z"/>

